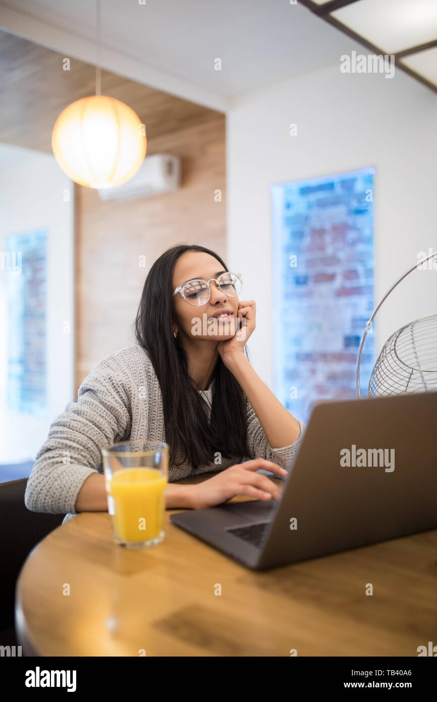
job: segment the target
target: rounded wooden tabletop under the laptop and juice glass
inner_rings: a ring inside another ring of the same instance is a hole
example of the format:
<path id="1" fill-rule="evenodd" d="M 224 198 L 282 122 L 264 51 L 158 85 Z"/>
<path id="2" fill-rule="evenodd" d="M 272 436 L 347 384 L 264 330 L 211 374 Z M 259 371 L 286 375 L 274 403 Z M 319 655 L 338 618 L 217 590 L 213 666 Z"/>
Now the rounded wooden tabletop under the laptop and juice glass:
<path id="1" fill-rule="evenodd" d="M 172 524 L 180 511 L 140 551 L 113 543 L 107 512 L 48 534 L 18 578 L 23 653 L 417 656 L 437 643 L 437 530 L 255 572 Z"/>

